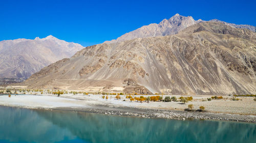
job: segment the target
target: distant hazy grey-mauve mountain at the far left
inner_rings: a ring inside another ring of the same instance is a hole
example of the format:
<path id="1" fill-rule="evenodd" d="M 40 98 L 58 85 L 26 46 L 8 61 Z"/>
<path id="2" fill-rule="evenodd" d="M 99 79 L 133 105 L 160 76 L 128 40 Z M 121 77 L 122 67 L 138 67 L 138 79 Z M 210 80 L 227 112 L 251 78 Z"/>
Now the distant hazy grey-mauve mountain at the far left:
<path id="1" fill-rule="evenodd" d="M 41 68 L 70 58 L 83 47 L 76 43 L 46 38 L 4 40 L 0 42 L 0 84 L 23 81 Z"/>

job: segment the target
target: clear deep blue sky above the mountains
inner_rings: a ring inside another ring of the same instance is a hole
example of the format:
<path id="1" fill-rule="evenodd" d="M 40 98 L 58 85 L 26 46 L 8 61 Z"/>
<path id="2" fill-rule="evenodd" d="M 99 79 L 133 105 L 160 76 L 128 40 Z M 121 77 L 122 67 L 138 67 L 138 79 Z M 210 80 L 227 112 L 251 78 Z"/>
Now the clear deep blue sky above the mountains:
<path id="1" fill-rule="evenodd" d="M 0 1 L 0 41 L 48 35 L 83 46 L 116 39 L 176 13 L 256 26 L 256 1 Z"/>

